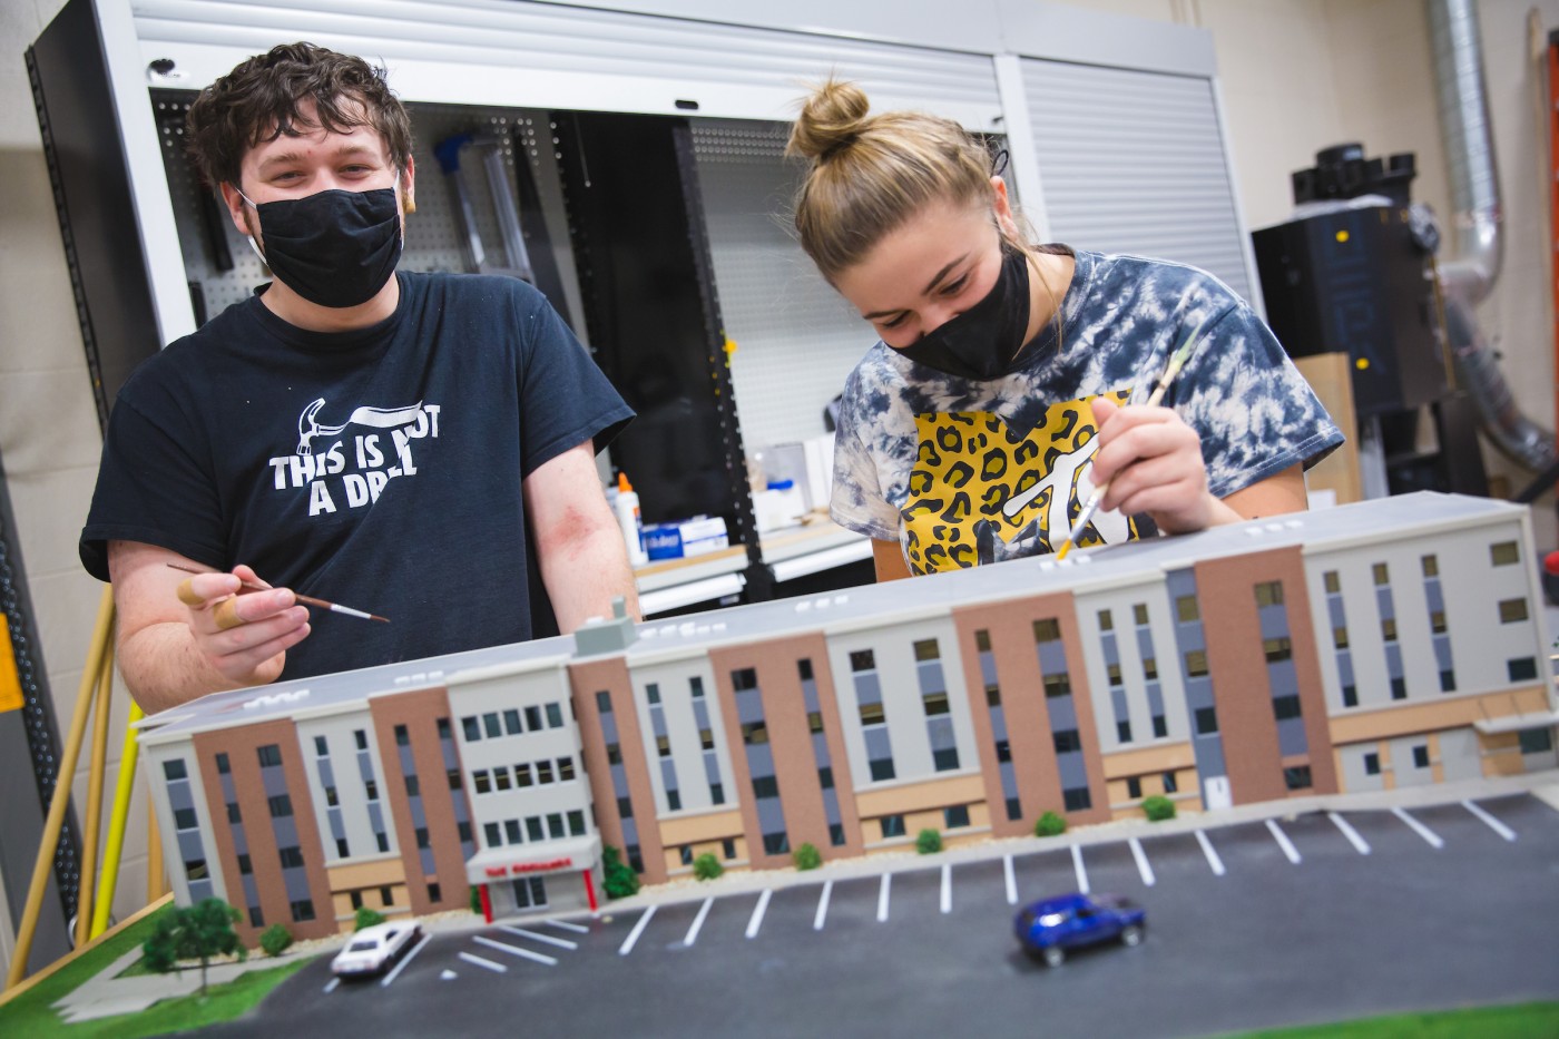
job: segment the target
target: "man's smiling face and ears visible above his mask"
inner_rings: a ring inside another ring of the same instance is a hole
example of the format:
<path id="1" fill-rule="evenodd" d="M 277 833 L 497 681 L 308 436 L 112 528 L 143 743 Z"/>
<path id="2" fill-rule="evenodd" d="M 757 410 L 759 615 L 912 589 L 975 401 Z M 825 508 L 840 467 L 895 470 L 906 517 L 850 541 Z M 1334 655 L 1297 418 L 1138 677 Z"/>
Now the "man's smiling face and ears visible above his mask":
<path id="1" fill-rule="evenodd" d="M 301 122 L 315 120 L 313 103 L 301 103 L 298 114 Z M 331 189 L 366 192 L 393 187 L 396 170 L 390 161 L 390 147 L 373 126 L 352 126 L 348 133 L 331 133 L 323 126 L 315 126 L 302 136 L 282 134 L 249 148 L 239 167 L 239 181 L 237 186 L 221 186 L 228 212 L 239 232 L 253 234 L 263 250 L 259 217 L 243 201 L 243 195 L 248 195 L 256 206 L 262 206 L 268 201 L 304 198 Z M 407 161 L 405 173 L 401 176 L 402 225 L 405 223 L 405 206 L 413 197 L 413 181 L 415 168 Z M 240 190 L 243 195 L 239 193 Z"/>

